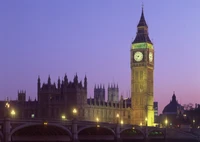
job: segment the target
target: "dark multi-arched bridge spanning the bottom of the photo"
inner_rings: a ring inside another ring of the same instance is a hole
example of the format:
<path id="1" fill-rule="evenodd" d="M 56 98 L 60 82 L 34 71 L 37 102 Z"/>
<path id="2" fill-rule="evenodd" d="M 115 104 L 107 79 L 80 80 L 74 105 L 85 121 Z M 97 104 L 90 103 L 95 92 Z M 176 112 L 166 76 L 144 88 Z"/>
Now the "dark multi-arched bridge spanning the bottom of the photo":
<path id="1" fill-rule="evenodd" d="M 76 142 L 188 139 L 197 134 L 180 129 L 133 126 L 78 120 L 0 120 L 0 142 Z"/>

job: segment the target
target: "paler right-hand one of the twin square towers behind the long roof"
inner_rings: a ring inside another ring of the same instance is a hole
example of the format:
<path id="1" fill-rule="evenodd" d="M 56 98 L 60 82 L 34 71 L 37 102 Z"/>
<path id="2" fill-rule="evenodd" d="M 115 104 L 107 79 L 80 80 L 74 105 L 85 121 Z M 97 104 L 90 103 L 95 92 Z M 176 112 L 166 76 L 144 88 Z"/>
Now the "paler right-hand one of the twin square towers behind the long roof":
<path id="1" fill-rule="evenodd" d="M 119 102 L 119 88 L 118 85 L 108 85 L 108 102 Z"/>

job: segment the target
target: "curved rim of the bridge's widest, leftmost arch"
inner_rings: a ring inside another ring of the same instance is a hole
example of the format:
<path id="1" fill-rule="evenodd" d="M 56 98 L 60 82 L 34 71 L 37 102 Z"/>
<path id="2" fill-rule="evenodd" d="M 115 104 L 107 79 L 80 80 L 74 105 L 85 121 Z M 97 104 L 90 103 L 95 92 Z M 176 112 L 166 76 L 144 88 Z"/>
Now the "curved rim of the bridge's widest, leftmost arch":
<path id="1" fill-rule="evenodd" d="M 18 130 L 21 130 L 21 129 L 23 129 L 23 128 L 27 128 L 27 127 L 31 127 L 31 126 L 42 126 L 42 125 L 43 125 L 43 124 L 41 124 L 41 123 L 31 123 L 31 124 L 29 123 L 29 124 L 20 125 L 20 126 L 14 128 L 14 129 L 11 131 L 10 136 L 12 137 L 12 135 L 13 135 L 15 132 L 17 132 Z M 62 126 L 62 125 L 59 125 L 59 124 L 51 124 L 51 123 L 50 123 L 50 124 L 48 124 L 47 126 L 54 126 L 54 127 L 60 128 L 60 129 L 62 129 L 62 130 L 64 130 L 64 131 L 66 131 L 67 134 L 69 135 L 69 137 L 72 138 L 72 133 L 71 133 L 71 131 L 70 131 L 68 128 Z"/>

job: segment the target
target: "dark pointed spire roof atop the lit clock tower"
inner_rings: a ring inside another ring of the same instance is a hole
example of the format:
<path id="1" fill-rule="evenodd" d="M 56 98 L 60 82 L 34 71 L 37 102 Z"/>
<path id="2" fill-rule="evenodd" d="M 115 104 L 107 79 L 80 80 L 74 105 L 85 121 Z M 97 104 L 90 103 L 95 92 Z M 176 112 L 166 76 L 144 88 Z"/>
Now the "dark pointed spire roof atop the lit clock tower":
<path id="1" fill-rule="evenodd" d="M 151 40 L 148 36 L 148 25 L 146 23 L 146 20 L 145 20 L 145 17 L 144 17 L 144 10 L 143 10 L 143 7 L 142 7 L 142 14 L 141 14 L 141 17 L 140 17 L 140 21 L 137 25 L 137 35 L 136 35 L 134 41 L 132 42 L 132 44 L 143 43 L 143 42 L 152 44 L 152 42 L 151 42 Z"/>

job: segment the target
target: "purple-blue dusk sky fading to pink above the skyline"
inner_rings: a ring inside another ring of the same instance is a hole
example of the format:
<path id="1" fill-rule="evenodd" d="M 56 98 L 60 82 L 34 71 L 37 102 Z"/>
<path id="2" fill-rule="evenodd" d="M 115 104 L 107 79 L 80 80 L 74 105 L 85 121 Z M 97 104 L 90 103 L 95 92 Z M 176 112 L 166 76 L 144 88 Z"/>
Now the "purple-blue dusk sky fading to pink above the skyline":
<path id="1" fill-rule="evenodd" d="M 175 91 L 181 104 L 200 103 L 200 1 L 143 0 L 155 49 L 154 100 L 159 112 Z M 141 0 L 20 0 L 0 2 L 0 100 L 26 90 L 36 97 L 37 77 L 67 74 L 130 91 L 130 46 Z"/>

